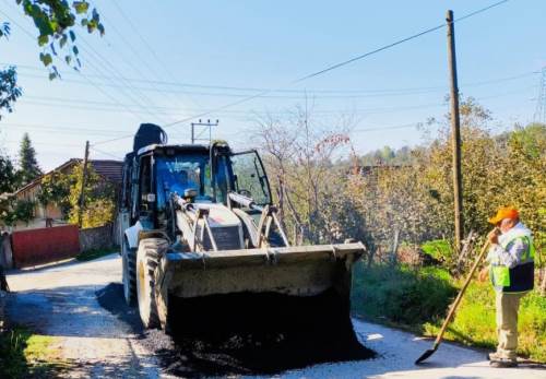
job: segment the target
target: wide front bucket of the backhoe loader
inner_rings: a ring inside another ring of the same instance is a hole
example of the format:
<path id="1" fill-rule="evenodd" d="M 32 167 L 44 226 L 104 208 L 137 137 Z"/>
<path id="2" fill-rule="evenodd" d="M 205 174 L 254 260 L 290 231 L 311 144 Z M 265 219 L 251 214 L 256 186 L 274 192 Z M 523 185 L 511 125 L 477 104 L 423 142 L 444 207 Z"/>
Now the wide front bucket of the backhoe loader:
<path id="1" fill-rule="evenodd" d="M 363 252 L 358 242 L 167 253 L 158 304 L 177 334 L 219 342 L 320 333 L 335 352 L 339 343 L 357 343 L 349 295 L 352 265 Z"/>

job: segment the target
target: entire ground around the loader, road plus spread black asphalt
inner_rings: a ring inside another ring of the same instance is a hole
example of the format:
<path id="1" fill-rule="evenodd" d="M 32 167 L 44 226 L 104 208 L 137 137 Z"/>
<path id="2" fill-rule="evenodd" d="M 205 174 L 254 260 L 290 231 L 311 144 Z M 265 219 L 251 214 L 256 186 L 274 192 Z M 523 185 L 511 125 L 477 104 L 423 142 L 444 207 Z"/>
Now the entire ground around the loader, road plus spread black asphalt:
<path id="1" fill-rule="evenodd" d="M 120 268 L 119 256 L 111 254 L 11 272 L 8 281 L 13 293 L 8 297 L 7 317 L 55 336 L 59 358 L 71 367 L 62 374 L 68 378 L 546 378 L 544 367 L 495 369 L 484 352 L 448 343 L 417 367 L 413 362 L 431 346 L 430 341 L 358 320 L 353 321 L 355 331 L 377 353 L 373 358 L 312 364 L 287 362 L 286 354 L 262 350 L 261 360 L 245 360 L 217 348 L 185 345 L 161 331 L 142 330 L 135 309 L 122 299 Z M 260 352 L 256 347 L 252 357 Z M 360 353 L 369 357 L 369 351 Z M 257 368 L 256 362 L 269 362 L 269 369 Z"/>

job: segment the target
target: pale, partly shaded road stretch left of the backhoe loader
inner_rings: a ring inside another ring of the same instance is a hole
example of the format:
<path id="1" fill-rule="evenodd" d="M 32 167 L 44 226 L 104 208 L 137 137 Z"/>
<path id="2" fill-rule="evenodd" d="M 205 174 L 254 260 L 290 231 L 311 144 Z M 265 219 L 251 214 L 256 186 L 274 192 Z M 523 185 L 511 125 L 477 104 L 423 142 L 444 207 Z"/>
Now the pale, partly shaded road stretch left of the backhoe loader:
<path id="1" fill-rule="evenodd" d="M 119 281 L 117 254 L 10 273 L 16 294 L 8 299 L 7 316 L 55 336 L 59 358 L 73 367 L 69 378 L 157 378 L 158 364 L 139 335 L 96 299 L 96 291 Z"/>

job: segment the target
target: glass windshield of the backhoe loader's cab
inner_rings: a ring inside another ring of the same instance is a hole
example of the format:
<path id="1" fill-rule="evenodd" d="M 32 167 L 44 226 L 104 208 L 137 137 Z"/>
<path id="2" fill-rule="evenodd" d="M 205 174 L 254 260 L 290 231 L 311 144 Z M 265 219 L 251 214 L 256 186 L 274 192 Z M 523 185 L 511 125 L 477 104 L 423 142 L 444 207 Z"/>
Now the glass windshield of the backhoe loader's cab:
<path id="1" fill-rule="evenodd" d="M 198 192 L 195 201 L 214 201 L 211 185 L 211 167 L 209 155 L 179 154 L 177 156 L 158 156 L 156 158 L 157 208 L 165 209 L 170 193 L 183 196 L 185 190 L 194 189 Z M 225 161 L 218 159 L 216 167 L 216 198 L 225 201 L 227 192 Z"/>

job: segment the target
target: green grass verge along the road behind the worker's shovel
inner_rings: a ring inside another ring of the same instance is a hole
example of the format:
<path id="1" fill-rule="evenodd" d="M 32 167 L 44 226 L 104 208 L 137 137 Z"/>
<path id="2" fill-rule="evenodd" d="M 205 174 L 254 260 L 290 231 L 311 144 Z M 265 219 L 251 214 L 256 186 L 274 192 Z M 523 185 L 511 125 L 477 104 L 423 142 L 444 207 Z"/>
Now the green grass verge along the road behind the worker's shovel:
<path id="1" fill-rule="evenodd" d="M 436 335 L 462 282 L 434 267 L 367 269 L 359 263 L 355 269 L 353 311 L 376 322 Z M 532 292 L 522 299 L 518 329 L 518 353 L 546 363 L 546 297 Z M 490 283 L 471 283 L 444 339 L 495 348 L 495 292 Z"/>

